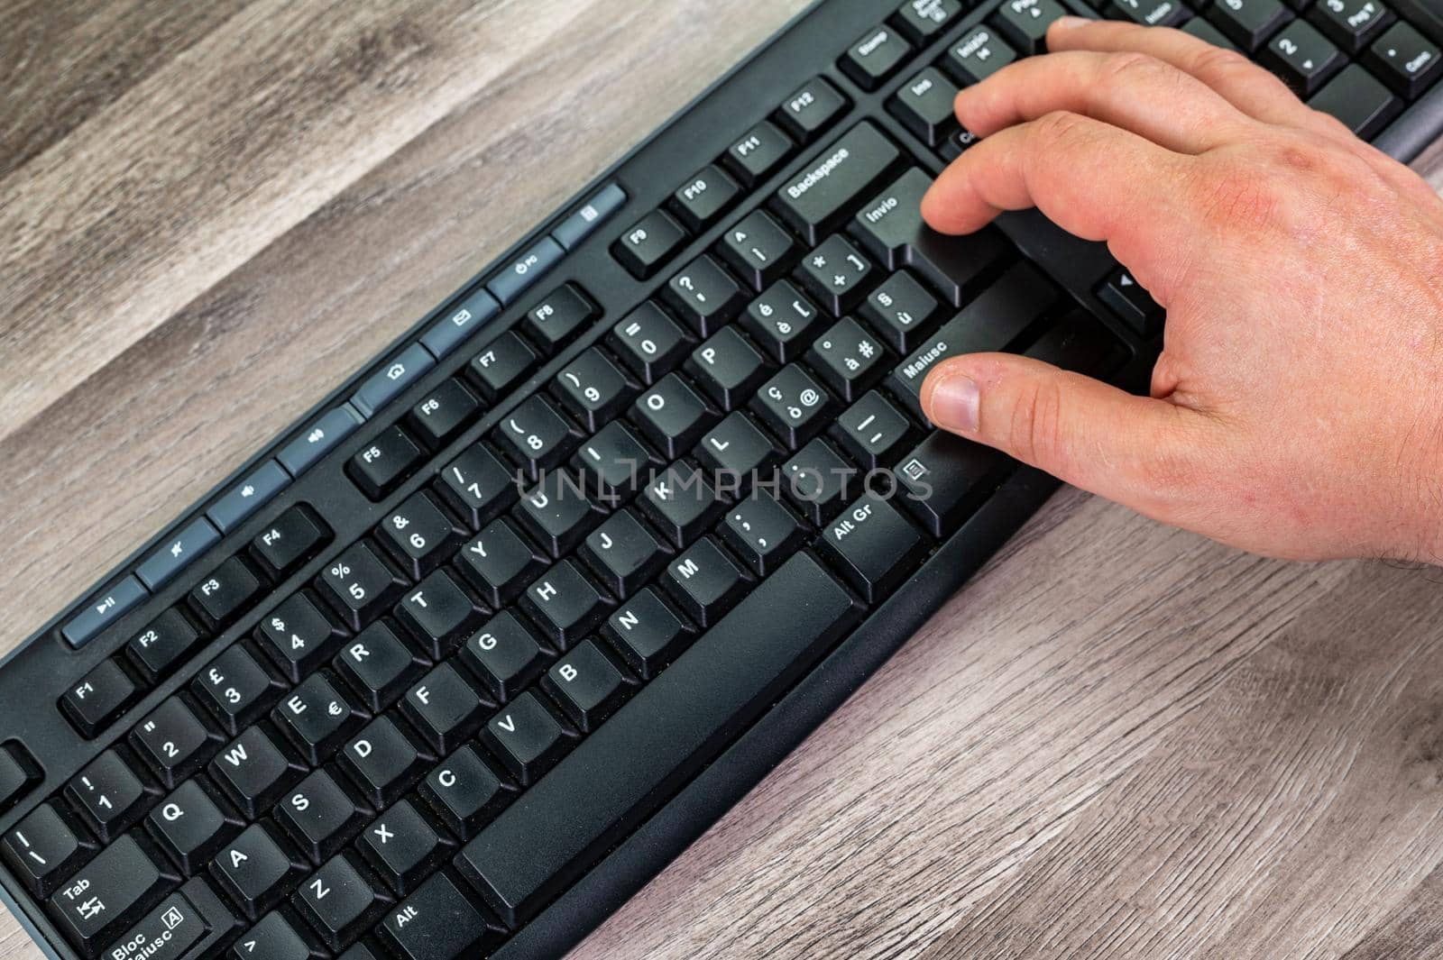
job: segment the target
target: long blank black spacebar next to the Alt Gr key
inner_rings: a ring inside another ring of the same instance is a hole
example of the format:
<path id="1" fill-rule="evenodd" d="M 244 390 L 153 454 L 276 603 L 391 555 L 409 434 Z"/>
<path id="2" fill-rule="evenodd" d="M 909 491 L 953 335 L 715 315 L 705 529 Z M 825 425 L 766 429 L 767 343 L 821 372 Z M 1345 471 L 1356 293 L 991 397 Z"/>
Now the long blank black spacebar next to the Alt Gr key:
<path id="1" fill-rule="evenodd" d="M 798 554 L 456 856 L 509 927 L 671 799 L 860 608 Z"/>

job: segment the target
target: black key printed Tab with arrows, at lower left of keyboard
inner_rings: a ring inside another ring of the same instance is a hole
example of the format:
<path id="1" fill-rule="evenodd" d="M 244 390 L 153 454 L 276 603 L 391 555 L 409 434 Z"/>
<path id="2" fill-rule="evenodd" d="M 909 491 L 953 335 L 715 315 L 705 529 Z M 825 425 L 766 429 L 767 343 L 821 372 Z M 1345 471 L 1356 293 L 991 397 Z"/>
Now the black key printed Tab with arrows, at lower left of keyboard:
<path id="1" fill-rule="evenodd" d="M 51 915 L 81 953 L 94 954 L 160 902 L 175 882 L 134 837 L 111 843 L 51 898 Z"/>

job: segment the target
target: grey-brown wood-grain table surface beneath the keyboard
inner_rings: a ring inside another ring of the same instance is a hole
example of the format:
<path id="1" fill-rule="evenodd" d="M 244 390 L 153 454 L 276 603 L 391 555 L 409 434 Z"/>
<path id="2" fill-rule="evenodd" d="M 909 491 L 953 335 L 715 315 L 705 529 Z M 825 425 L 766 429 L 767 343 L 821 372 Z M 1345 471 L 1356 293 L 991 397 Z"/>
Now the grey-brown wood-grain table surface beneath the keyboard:
<path id="1" fill-rule="evenodd" d="M 0 652 L 802 6 L 10 0 Z M 577 956 L 1443 956 L 1439 581 L 1061 493 Z"/>

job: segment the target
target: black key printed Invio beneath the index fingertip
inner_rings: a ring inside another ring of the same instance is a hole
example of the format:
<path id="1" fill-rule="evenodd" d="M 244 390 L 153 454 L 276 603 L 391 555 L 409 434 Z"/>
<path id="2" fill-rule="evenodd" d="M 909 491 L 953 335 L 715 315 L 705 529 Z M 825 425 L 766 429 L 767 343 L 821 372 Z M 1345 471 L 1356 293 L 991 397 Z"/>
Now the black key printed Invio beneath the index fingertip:
<path id="1" fill-rule="evenodd" d="M 883 267 L 912 267 L 960 307 L 1006 259 L 1007 244 L 996 231 L 942 236 L 924 223 L 922 195 L 931 185 L 931 177 L 912 167 L 861 208 L 853 231 Z"/>

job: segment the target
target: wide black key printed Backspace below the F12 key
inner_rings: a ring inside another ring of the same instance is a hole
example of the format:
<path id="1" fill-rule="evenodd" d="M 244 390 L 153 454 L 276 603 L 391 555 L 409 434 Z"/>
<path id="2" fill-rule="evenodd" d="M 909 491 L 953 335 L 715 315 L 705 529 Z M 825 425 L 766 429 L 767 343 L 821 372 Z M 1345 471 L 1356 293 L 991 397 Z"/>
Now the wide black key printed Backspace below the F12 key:
<path id="1" fill-rule="evenodd" d="M 802 239 L 818 244 L 900 157 L 890 140 L 861 121 L 784 185 L 773 205 Z"/>

